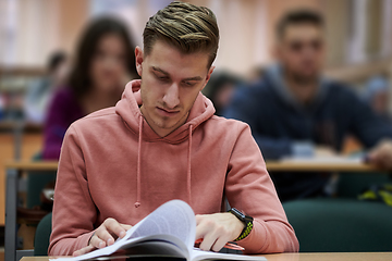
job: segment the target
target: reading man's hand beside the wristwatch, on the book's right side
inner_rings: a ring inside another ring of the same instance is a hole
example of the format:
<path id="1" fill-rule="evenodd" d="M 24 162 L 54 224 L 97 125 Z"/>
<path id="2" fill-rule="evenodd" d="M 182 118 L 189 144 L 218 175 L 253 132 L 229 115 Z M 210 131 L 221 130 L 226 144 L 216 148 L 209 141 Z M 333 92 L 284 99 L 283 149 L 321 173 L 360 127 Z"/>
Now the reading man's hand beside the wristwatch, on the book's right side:
<path id="1" fill-rule="evenodd" d="M 232 213 L 196 215 L 196 238 L 203 238 L 201 250 L 218 252 L 228 241 L 237 238 L 245 224 Z"/>

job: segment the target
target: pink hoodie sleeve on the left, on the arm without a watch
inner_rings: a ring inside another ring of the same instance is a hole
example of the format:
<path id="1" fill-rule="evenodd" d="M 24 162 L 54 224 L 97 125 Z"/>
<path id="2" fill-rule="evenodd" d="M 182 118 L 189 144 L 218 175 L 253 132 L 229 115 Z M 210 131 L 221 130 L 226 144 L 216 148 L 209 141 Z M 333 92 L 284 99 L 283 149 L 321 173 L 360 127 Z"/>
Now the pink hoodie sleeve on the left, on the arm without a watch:
<path id="1" fill-rule="evenodd" d="M 60 154 L 48 253 L 71 256 L 75 250 L 86 247 L 94 233 L 96 219 L 83 152 L 76 129 L 71 125 Z"/>

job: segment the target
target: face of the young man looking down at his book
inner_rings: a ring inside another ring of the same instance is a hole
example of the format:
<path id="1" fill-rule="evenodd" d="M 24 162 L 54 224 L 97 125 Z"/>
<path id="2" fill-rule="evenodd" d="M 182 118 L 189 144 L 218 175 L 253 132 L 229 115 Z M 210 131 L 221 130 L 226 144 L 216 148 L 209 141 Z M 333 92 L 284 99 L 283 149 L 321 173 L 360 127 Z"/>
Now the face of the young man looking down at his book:
<path id="1" fill-rule="evenodd" d="M 136 48 L 136 67 L 142 77 L 140 111 L 150 127 L 167 136 L 185 123 L 199 91 L 213 71 L 208 53 L 184 54 L 158 40 L 146 57 Z"/>

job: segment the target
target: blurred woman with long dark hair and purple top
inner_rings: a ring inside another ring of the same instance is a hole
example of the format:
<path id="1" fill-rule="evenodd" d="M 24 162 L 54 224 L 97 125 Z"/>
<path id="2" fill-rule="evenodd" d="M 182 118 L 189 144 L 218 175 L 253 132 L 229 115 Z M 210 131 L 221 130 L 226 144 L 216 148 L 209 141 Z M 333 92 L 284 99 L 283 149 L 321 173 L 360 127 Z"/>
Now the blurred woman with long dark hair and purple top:
<path id="1" fill-rule="evenodd" d="M 134 48 L 121 21 L 100 17 L 87 26 L 68 84 L 57 91 L 49 107 L 44 159 L 59 159 L 71 123 L 120 100 L 124 85 L 137 77 Z"/>

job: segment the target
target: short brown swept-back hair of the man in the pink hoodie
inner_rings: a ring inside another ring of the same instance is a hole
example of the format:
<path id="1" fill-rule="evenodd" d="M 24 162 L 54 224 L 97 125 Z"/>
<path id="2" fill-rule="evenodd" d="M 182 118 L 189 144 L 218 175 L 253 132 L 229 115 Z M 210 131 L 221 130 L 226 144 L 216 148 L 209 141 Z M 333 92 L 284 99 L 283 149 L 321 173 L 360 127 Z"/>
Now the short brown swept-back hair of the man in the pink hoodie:
<path id="1" fill-rule="evenodd" d="M 143 32 L 145 55 L 158 39 L 183 53 L 208 52 L 210 67 L 219 45 L 217 18 L 208 8 L 174 1 L 148 20 Z"/>

